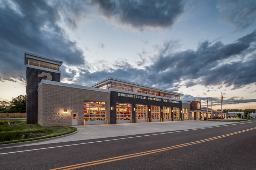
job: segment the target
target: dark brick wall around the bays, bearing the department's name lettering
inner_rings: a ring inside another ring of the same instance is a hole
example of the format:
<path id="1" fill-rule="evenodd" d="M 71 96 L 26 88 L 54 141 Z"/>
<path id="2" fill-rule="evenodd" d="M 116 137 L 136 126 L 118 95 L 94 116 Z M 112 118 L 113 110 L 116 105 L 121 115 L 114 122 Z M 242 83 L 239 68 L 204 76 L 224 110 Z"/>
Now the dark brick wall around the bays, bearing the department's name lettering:
<path id="1" fill-rule="evenodd" d="M 160 119 L 163 117 L 163 113 L 161 112 L 161 110 L 163 109 L 163 107 L 171 107 L 171 109 L 173 107 L 176 108 L 180 108 L 180 111 L 182 111 L 182 102 L 180 102 L 179 104 L 177 103 L 169 103 L 169 102 L 164 102 L 164 101 L 152 101 L 152 100 L 148 100 L 148 97 L 146 97 L 146 99 L 140 99 L 140 98 L 132 98 L 132 97 L 123 97 L 123 96 L 118 96 L 119 92 L 116 91 L 111 91 L 111 103 L 110 103 L 110 107 L 113 107 L 113 110 L 110 111 L 110 123 L 111 124 L 116 124 L 116 103 L 127 103 L 127 104 L 132 104 L 132 119 L 136 119 L 136 113 L 135 111 L 133 111 L 133 108 L 136 107 L 136 104 L 142 104 L 142 105 L 147 105 L 148 109 L 151 106 L 160 106 Z M 129 94 L 127 92 L 123 92 L 124 94 Z M 138 93 L 138 96 L 143 96 L 143 94 Z M 158 98 L 157 96 L 152 96 L 154 98 Z M 171 100 L 171 98 L 169 99 Z M 171 113 L 171 117 L 172 117 L 172 113 Z M 182 114 L 180 113 L 180 117 L 182 117 Z M 150 112 L 148 111 L 148 118 L 150 118 Z M 148 119 L 147 118 L 147 119 Z"/>

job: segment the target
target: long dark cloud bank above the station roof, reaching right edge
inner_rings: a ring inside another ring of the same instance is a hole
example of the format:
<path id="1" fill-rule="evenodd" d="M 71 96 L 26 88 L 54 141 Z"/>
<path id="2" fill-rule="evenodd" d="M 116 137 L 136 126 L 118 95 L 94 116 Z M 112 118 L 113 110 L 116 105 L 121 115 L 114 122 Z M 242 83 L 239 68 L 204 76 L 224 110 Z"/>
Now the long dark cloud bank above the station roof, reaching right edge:
<path id="1" fill-rule="evenodd" d="M 204 41 L 198 44 L 196 50 L 176 53 L 170 50 L 172 41 L 168 41 L 158 46 L 158 53 L 152 58 L 152 64 L 143 69 L 135 68 L 125 60 L 116 61 L 110 66 L 105 61 L 100 61 L 98 63 L 102 66 L 98 68 L 103 69 L 89 72 L 89 68 L 81 68 L 75 83 L 91 85 L 111 76 L 173 91 L 177 91 L 181 85 L 218 88 L 231 86 L 238 89 L 256 83 L 255 37 L 256 30 L 231 44 Z M 186 83 L 181 84 L 182 81 Z"/>

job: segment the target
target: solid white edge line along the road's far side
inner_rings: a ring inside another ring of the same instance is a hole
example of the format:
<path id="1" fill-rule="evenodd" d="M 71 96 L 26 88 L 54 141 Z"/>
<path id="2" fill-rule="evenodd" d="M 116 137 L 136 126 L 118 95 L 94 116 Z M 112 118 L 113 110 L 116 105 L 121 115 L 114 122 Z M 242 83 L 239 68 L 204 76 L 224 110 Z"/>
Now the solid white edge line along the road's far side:
<path id="1" fill-rule="evenodd" d="M 256 121 L 254 121 L 254 122 L 247 122 L 247 123 L 255 123 L 255 122 L 256 122 Z M 246 124 L 246 123 L 232 124 L 232 125 L 241 125 L 241 124 Z M 232 125 L 223 125 L 223 126 L 232 126 Z M 218 128 L 218 127 L 223 127 L 223 126 L 213 126 L 213 127 L 208 127 L 208 128 Z M 189 130 L 182 130 L 182 131 L 176 131 L 176 132 L 185 132 L 185 131 L 200 130 L 200 129 L 208 129 L 208 128 L 189 129 Z M 171 133 L 176 133 L 176 132 L 165 132 L 165 133 L 161 133 L 161 134 L 151 134 L 151 135 L 143 135 L 143 136 L 133 136 L 133 137 L 125 137 L 125 138 L 111 139 L 111 140 L 105 140 L 105 141 L 95 141 L 95 142 L 87 142 L 87 143 L 77 143 L 77 144 L 72 144 L 72 145 L 63 145 L 63 146 L 54 146 L 54 147 L 48 147 L 48 148 L 30 149 L 30 150 L 25 150 L 25 151 L 7 152 L 7 153 L 0 153 L 0 155 L 9 154 L 9 153 L 36 151 L 36 150 L 41 150 L 41 149 L 50 149 L 50 148 L 59 148 L 59 147 L 66 147 L 66 146 L 83 145 L 83 144 L 88 144 L 88 143 L 115 141 L 115 140 L 129 139 L 129 138 L 135 138 L 135 137 L 144 137 L 144 136 L 171 134 Z M 3 149 L 4 149 L 4 148 L 3 148 Z"/>

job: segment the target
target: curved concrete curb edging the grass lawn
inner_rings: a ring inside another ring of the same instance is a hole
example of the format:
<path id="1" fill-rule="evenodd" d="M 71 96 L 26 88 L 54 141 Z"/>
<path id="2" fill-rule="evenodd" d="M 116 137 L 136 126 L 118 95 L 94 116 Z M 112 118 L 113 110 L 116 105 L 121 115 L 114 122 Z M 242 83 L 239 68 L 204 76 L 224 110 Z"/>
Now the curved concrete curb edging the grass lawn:
<path id="1" fill-rule="evenodd" d="M 69 134 L 55 136 L 55 137 L 49 137 L 49 138 L 45 138 L 45 139 L 38 139 L 38 140 L 33 140 L 33 141 L 25 141 L 25 142 L 2 144 L 2 145 L 0 145 L 0 148 L 9 147 L 9 146 L 20 146 L 20 145 L 26 145 L 26 144 L 31 144 L 31 143 L 39 143 L 39 142 L 44 142 L 44 141 L 50 141 L 50 140 L 54 140 L 54 139 L 58 139 L 58 138 L 62 138 L 62 137 L 70 136 L 70 135 L 74 135 L 77 132 L 78 132 L 78 129 L 76 129 L 75 132 L 72 132 L 72 133 L 69 133 Z"/>

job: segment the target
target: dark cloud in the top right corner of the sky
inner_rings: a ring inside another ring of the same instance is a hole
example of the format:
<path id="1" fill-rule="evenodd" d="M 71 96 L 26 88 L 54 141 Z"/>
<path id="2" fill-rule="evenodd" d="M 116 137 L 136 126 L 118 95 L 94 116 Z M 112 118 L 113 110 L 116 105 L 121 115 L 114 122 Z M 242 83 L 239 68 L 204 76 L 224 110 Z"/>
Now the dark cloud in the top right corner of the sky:
<path id="1" fill-rule="evenodd" d="M 216 6 L 222 22 L 234 26 L 235 31 L 243 31 L 255 23 L 255 0 L 219 0 Z"/>

